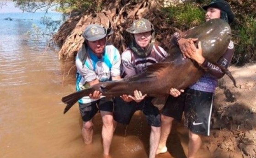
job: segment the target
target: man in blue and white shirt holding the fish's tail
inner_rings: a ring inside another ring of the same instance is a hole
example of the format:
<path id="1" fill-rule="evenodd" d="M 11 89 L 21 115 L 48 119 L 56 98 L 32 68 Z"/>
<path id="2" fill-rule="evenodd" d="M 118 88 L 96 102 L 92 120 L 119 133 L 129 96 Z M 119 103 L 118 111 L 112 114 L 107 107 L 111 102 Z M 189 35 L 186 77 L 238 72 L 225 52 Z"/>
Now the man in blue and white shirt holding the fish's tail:
<path id="1" fill-rule="evenodd" d="M 98 24 L 91 24 L 85 28 L 82 34 L 85 41 L 75 60 L 77 91 L 85 89 L 85 84 L 92 86 L 99 82 L 121 79 L 120 53 L 113 45 L 107 45 L 106 37 L 112 33 L 112 29 Z M 108 155 L 116 126 L 112 116 L 112 98 L 106 98 L 101 96 L 99 91 L 94 91 L 93 94 L 81 98 L 78 103 L 83 120 L 82 136 L 85 144 L 92 142 L 92 118 L 100 111 L 103 122 L 103 153 Z"/>

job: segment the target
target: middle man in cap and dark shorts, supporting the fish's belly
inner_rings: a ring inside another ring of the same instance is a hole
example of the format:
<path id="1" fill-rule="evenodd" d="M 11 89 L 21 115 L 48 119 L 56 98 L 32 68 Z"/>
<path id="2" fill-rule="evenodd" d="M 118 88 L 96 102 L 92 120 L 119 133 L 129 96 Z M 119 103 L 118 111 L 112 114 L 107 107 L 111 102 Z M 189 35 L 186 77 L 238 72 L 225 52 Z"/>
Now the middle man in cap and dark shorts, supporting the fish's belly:
<path id="1" fill-rule="evenodd" d="M 149 65 L 158 63 L 167 56 L 165 50 L 155 44 L 154 26 L 149 20 L 143 18 L 135 20 L 126 31 L 132 34 L 132 40 L 122 53 L 122 76 L 124 78 L 145 72 Z M 148 125 L 151 126 L 149 158 L 155 158 L 160 139 L 160 113 L 158 108 L 151 103 L 153 98 L 145 96 L 146 94 L 135 90 L 134 96 L 115 97 L 113 116 L 118 123 L 128 125 L 133 114 L 138 110 L 142 111 Z"/>

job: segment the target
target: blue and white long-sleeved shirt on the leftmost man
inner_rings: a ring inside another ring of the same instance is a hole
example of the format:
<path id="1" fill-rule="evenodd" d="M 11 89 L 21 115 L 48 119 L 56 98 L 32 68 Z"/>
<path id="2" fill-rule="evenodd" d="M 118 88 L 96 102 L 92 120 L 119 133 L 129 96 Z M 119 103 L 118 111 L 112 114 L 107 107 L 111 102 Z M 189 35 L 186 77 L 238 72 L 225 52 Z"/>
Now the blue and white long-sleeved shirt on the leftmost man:
<path id="1" fill-rule="evenodd" d="M 82 59 L 79 58 L 78 53 L 75 60 L 75 65 L 77 68 L 77 91 L 82 90 L 86 82 L 91 82 L 95 79 L 98 79 L 100 82 L 110 81 L 111 77 L 120 75 L 121 57 L 116 47 L 113 45 L 107 45 L 102 54 L 102 58 L 98 58 L 94 53 L 92 53 L 89 47 L 85 48 L 84 45 L 80 51 L 84 51 L 85 49 L 87 53 L 85 62 L 82 63 Z M 92 101 L 95 100 L 90 99 L 89 96 L 85 96 L 78 102 L 85 104 Z"/>

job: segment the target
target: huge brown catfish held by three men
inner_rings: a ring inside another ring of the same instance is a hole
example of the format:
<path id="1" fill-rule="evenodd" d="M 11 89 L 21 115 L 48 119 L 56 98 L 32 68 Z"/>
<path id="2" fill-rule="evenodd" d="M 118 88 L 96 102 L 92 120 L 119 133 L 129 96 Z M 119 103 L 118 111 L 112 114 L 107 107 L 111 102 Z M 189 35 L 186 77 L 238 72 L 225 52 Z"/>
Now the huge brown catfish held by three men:
<path id="1" fill-rule="evenodd" d="M 212 19 L 192 28 L 184 36 L 185 38 L 198 38 L 195 44 L 197 45 L 201 41 L 203 57 L 209 62 L 217 64 L 216 62 L 223 56 L 229 45 L 231 30 L 225 21 Z M 220 68 L 235 84 L 235 79 L 230 72 L 222 66 Z M 118 81 L 101 82 L 85 90 L 64 96 L 62 101 L 67 104 L 64 114 L 79 99 L 89 96 L 95 90 L 100 91 L 105 96 L 133 95 L 134 90 L 140 90 L 142 94 L 147 94 L 147 96 L 165 96 L 169 94 L 171 88 L 178 90 L 187 88 L 204 73 L 204 70 L 196 62 L 182 58 L 179 46 L 173 44 L 168 51 L 167 58 L 160 63 L 148 66 L 142 74 Z"/>

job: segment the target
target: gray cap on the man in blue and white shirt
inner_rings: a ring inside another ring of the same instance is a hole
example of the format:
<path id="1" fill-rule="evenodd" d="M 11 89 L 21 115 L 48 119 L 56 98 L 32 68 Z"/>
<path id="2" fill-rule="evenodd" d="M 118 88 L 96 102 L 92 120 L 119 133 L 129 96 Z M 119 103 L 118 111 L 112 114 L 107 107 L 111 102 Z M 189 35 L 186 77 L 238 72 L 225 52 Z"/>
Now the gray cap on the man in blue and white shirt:
<path id="1" fill-rule="evenodd" d="M 82 36 L 88 41 L 97 41 L 113 33 L 111 28 L 105 28 L 99 24 L 90 24 L 85 28 Z"/>

